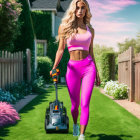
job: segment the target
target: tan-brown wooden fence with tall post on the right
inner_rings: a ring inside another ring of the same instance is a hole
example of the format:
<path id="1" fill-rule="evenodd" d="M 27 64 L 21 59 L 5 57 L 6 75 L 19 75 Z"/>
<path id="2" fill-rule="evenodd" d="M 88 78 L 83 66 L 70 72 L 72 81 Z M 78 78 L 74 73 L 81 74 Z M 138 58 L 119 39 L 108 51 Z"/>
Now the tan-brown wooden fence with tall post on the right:
<path id="1" fill-rule="evenodd" d="M 118 55 L 118 81 L 128 86 L 129 101 L 140 101 L 140 53 L 134 56 L 133 47 Z"/>

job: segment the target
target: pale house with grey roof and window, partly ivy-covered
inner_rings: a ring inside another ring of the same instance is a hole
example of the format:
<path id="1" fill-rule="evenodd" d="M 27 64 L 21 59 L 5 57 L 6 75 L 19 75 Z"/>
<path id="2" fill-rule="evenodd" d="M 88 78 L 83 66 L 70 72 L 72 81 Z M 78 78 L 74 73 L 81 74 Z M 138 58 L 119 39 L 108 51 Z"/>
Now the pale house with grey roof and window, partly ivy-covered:
<path id="1" fill-rule="evenodd" d="M 43 10 L 51 12 L 52 16 L 52 36 L 58 35 L 58 27 L 66 12 L 71 0 L 28 0 L 30 11 Z M 48 27 L 49 28 L 49 27 Z M 45 56 L 47 50 L 47 40 L 35 38 L 35 68 L 37 68 L 37 56 Z"/>

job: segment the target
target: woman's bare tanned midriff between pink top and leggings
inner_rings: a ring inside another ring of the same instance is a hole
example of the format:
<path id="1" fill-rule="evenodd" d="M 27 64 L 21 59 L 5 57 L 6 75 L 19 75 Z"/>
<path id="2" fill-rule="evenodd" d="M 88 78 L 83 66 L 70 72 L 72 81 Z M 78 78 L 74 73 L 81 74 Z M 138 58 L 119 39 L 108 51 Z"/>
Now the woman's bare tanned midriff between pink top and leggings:
<path id="1" fill-rule="evenodd" d="M 69 54 L 70 60 L 82 60 L 88 56 L 89 52 L 86 50 L 73 50 Z"/>

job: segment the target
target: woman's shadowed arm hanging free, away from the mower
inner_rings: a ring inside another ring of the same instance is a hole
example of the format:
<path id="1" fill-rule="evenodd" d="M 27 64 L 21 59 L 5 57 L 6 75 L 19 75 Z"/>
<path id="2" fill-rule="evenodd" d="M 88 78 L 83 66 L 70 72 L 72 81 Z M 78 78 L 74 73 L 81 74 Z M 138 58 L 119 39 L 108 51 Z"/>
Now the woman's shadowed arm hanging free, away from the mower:
<path id="1" fill-rule="evenodd" d="M 91 38 L 91 43 L 90 43 L 90 47 L 89 47 L 89 54 L 91 55 L 91 57 L 94 61 L 95 67 L 96 67 L 96 62 L 95 62 L 94 53 L 93 53 L 93 40 L 94 40 L 94 29 L 93 28 L 91 29 L 91 33 L 92 33 L 92 38 Z M 96 67 L 96 71 L 98 72 L 97 67 Z"/>

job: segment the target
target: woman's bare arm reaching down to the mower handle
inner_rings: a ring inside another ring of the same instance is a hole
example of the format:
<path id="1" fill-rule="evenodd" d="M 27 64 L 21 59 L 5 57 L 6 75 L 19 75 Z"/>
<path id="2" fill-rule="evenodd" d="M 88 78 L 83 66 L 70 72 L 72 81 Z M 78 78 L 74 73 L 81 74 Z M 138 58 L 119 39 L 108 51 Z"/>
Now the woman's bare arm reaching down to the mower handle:
<path id="1" fill-rule="evenodd" d="M 62 56 L 63 56 L 63 53 L 64 53 L 64 49 L 65 49 L 65 39 L 64 37 L 61 37 L 62 35 L 62 32 L 63 32 L 63 27 L 62 25 L 59 26 L 59 29 L 58 29 L 58 34 L 60 35 L 60 40 L 59 40 L 59 46 L 58 46 L 58 50 L 56 52 L 56 56 L 55 56 L 55 62 L 54 62 L 54 65 L 53 65 L 53 68 L 52 69 L 56 69 Z"/>

